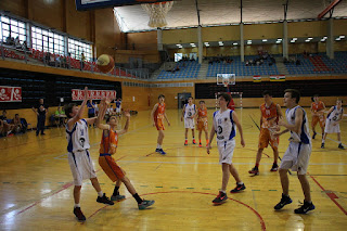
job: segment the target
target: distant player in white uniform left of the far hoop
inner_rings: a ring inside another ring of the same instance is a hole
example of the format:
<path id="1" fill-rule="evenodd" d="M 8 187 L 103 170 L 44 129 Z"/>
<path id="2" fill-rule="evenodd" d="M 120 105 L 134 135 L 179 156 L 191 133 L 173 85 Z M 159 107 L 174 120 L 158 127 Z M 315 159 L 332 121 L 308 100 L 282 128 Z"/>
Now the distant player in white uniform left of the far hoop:
<path id="1" fill-rule="evenodd" d="M 195 128 L 195 123 L 194 123 L 194 117 L 196 114 L 196 106 L 193 104 L 193 98 L 189 97 L 188 98 L 188 104 L 184 104 L 183 111 L 182 111 L 182 116 L 181 116 L 181 121 L 184 118 L 184 128 L 185 128 L 185 141 L 184 145 L 188 145 L 188 130 L 192 129 L 192 137 L 193 137 L 193 144 L 196 144 L 195 142 L 195 133 L 194 133 L 194 128 Z"/>

